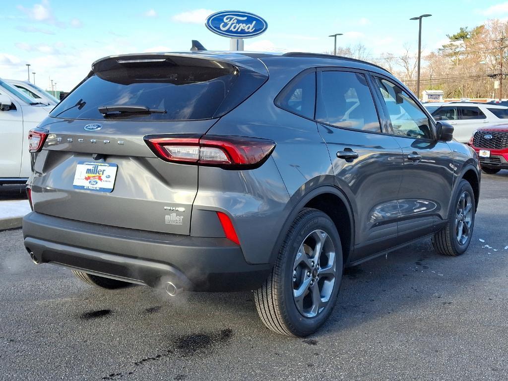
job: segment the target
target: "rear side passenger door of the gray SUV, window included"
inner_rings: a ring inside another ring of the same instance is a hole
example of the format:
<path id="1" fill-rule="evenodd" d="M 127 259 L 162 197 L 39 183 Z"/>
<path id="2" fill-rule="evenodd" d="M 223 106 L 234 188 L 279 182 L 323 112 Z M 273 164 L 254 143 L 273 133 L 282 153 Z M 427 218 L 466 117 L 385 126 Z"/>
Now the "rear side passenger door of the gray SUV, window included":
<path id="1" fill-rule="evenodd" d="M 335 182 L 357 211 L 354 262 L 395 245 L 402 150 L 382 133 L 364 72 L 318 70 L 316 106 Z"/>

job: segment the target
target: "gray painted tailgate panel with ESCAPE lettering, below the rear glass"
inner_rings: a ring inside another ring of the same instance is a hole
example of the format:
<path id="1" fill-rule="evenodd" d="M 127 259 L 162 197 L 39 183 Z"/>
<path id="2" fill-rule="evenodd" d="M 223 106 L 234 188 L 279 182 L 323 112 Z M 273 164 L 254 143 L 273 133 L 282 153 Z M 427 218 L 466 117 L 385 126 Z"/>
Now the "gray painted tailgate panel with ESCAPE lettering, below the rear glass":
<path id="1" fill-rule="evenodd" d="M 84 130 L 89 122 L 66 120 L 43 126 L 50 134 L 34 168 L 34 210 L 97 224 L 189 234 L 198 167 L 160 160 L 143 136 L 182 131 L 203 134 L 215 119 L 101 121 L 101 130 L 93 132 Z M 77 188 L 74 180 L 79 163 L 116 165 L 112 192 Z"/>

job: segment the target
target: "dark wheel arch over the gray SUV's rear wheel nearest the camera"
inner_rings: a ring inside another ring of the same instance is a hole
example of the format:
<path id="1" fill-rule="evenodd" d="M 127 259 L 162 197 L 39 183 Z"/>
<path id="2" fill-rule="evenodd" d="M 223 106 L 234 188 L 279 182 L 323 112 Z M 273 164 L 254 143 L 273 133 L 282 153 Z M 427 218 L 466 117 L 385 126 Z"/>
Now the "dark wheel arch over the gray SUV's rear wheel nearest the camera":
<path id="1" fill-rule="evenodd" d="M 330 207 L 330 203 L 336 204 L 337 207 Z M 339 188 L 332 185 L 324 185 L 314 188 L 298 200 L 288 218 L 285 220 L 285 223 L 279 233 L 272 250 L 270 263 L 275 262 L 285 235 L 288 233 L 289 228 L 298 213 L 304 208 L 320 210 L 332 219 L 337 231 L 339 232 L 342 246 L 343 264 L 346 265 L 347 260 L 351 258 L 351 253 L 353 252 L 355 245 L 355 219 L 353 208 L 346 195 Z M 345 219 L 344 214 L 347 215 Z"/>

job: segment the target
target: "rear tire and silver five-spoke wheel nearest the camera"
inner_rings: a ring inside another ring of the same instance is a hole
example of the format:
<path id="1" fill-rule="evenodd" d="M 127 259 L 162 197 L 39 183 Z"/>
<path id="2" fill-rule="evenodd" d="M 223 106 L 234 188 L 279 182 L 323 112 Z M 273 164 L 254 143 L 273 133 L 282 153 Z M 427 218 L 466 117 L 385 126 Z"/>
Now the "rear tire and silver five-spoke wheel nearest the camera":
<path id="1" fill-rule="evenodd" d="M 322 250 L 315 250 L 318 242 Z M 315 332 L 333 310 L 342 270 L 342 247 L 333 221 L 320 210 L 302 210 L 282 242 L 272 273 L 254 292 L 261 320 L 282 335 Z"/>

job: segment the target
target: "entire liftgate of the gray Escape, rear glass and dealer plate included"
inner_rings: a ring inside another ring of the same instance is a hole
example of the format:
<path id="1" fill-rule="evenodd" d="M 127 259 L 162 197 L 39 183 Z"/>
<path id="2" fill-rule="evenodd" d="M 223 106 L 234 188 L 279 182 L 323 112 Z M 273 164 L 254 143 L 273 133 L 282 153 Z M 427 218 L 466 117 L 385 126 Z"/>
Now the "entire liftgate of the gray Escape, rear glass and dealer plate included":
<path id="1" fill-rule="evenodd" d="M 250 74 L 188 57 L 130 56 L 94 65 L 42 125 L 49 136 L 34 166 L 35 211 L 188 235 L 199 167 L 163 161 L 144 138 L 199 138 L 265 80 L 256 74 L 244 86 Z"/>

